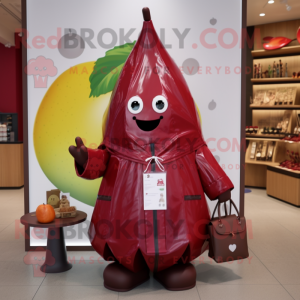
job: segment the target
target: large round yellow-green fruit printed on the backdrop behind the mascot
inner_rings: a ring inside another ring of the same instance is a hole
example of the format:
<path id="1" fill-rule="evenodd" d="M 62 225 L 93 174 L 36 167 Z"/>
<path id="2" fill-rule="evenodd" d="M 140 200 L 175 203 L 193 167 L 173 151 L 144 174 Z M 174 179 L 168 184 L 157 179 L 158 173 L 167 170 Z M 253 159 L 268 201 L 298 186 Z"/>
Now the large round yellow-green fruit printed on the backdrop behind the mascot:
<path id="1" fill-rule="evenodd" d="M 102 116 L 111 92 L 89 98 L 89 76 L 95 62 L 79 64 L 62 73 L 48 89 L 36 115 L 34 147 L 38 162 L 48 179 L 61 191 L 94 205 L 100 179 L 77 177 L 68 148 L 76 136 L 89 148 L 102 141 Z"/>

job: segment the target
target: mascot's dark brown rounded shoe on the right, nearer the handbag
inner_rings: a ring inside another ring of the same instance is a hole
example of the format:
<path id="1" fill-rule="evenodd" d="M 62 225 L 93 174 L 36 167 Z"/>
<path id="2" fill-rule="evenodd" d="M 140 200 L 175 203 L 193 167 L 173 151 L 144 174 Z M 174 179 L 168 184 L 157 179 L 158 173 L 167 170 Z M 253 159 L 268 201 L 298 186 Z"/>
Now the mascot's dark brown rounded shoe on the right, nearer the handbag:
<path id="1" fill-rule="evenodd" d="M 163 271 L 153 273 L 153 277 L 170 291 L 193 288 L 196 285 L 196 275 L 195 267 L 190 263 L 174 265 Z"/>

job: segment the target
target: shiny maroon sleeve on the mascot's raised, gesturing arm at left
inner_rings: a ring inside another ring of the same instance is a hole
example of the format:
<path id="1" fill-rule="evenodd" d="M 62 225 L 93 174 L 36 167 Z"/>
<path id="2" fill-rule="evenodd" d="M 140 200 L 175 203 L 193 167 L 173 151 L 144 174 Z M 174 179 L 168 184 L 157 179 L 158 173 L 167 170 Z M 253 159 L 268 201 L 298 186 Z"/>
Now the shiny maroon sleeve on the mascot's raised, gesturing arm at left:
<path id="1" fill-rule="evenodd" d="M 75 161 L 77 176 L 85 179 L 96 179 L 104 175 L 109 160 L 109 152 L 106 149 L 88 149 L 88 161 L 85 167 Z"/>

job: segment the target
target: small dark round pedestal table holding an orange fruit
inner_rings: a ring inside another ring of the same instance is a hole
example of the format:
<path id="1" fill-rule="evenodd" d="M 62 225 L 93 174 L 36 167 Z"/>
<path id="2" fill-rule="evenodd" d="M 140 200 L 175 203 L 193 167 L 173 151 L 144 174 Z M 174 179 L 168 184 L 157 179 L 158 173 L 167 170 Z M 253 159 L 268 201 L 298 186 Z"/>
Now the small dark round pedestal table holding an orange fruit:
<path id="1" fill-rule="evenodd" d="M 25 226 L 48 228 L 46 259 L 41 266 L 42 272 L 60 273 L 72 268 L 72 265 L 67 260 L 63 227 L 84 222 L 86 217 L 87 214 L 80 210 L 77 210 L 76 217 L 57 218 L 47 224 L 40 223 L 36 218 L 35 212 L 21 217 L 21 223 Z"/>

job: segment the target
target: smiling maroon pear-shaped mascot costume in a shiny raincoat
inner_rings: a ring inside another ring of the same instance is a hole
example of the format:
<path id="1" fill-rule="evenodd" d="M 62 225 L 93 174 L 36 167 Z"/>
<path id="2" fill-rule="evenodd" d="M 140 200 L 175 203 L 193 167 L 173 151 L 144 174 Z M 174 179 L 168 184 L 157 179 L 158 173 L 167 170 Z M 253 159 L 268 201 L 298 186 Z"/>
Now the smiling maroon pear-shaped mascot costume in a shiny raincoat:
<path id="1" fill-rule="evenodd" d="M 165 288 L 195 286 L 189 263 L 206 250 L 210 215 L 204 193 L 223 202 L 233 184 L 203 140 L 189 88 L 159 40 L 150 11 L 111 96 L 104 140 L 87 149 L 77 137 L 69 151 L 79 177 L 103 176 L 89 237 L 114 260 L 106 288 L 128 291 L 149 279 Z M 143 174 L 166 173 L 165 210 L 145 210 Z"/>

